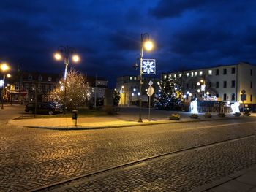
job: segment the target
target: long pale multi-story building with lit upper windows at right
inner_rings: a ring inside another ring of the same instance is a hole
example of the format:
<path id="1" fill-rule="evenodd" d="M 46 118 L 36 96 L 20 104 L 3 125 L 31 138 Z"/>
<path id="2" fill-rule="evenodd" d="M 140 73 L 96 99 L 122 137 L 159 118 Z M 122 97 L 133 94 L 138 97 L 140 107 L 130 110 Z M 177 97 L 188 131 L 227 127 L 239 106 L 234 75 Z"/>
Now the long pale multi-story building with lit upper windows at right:
<path id="1" fill-rule="evenodd" d="M 167 78 L 181 83 L 190 99 L 216 96 L 219 101 L 233 103 L 242 100 L 241 91 L 245 90 L 244 103 L 256 104 L 256 66 L 249 63 L 163 73 L 162 80 Z"/>

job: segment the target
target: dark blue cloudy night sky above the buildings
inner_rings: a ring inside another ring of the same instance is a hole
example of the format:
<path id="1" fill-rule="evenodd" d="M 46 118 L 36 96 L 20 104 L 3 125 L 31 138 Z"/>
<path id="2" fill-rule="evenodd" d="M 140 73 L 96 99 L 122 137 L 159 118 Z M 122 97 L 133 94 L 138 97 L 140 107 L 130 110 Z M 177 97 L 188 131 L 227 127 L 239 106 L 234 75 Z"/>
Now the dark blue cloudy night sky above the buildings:
<path id="1" fill-rule="evenodd" d="M 245 3 L 246 2 L 246 3 Z M 0 61 L 23 70 L 64 72 L 53 59 L 59 45 L 82 58 L 84 74 L 138 74 L 140 34 L 156 47 L 157 74 L 248 61 L 256 64 L 256 1 L 1 0 Z"/>

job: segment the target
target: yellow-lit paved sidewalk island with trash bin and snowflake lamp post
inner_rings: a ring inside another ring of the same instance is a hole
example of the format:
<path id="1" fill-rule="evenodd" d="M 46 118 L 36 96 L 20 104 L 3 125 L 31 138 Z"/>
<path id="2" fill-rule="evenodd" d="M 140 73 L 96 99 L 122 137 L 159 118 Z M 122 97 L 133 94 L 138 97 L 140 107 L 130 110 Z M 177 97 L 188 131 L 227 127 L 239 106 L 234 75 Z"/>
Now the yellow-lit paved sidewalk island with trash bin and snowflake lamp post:
<path id="1" fill-rule="evenodd" d="M 170 112 L 169 112 L 170 113 Z M 205 118 L 204 114 L 199 114 L 198 119 L 189 118 L 189 112 L 171 112 L 179 113 L 181 120 L 169 120 L 165 113 L 155 115 L 156 118 L 151 118 L 149 121 L 143 118 L 143 123 L 138 122 L 138 114 L 123 113 L 115 116 L 102 117 L 81 117 L 78 116 L 78 124 L 75 126 L 75 120 L 72 118 L 30 118 L 10 120 L 9 123 L 15 126 L 25 126 L 31 128 L 48 128 L 53 130 L 83 130 L 83 129 L 97 129 L 97 128 L 118 128 L 129 126 L 148 126 L 166 123 L 182 123 L 202 120 L 223 120 L 226 118 L 235 118 L 232 114 L 227 114 L 225 118 L 219 118 L 217 114 L 212 114 L 213 118 Z M 146 115 L 143 114 L 142 117 Z M 152 115 L 154 117 L 154 115 Z"/>

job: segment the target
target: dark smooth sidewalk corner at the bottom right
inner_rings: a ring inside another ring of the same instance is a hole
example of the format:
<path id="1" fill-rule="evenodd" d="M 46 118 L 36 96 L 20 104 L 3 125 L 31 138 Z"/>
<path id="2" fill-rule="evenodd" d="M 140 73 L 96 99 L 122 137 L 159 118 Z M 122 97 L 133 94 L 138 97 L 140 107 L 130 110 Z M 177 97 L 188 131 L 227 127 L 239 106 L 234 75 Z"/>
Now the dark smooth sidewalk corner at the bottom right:
<path id="1" fill-rule="evenodd" d="M 189 192 L 256 192 L 256 166 L 231 174 Z"/>

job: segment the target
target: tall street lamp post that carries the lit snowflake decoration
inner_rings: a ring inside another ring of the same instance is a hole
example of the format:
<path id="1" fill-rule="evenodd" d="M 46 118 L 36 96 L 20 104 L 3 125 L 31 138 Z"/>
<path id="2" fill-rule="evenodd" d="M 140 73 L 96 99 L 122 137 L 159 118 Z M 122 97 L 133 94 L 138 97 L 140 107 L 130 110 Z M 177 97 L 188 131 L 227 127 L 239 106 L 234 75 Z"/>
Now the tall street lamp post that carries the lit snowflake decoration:
<path id="1" fill-rule="evenodd" d="M 142 93 L 142 85 L 143 85 L 143 79 L 142 79 L 142 59 L 143 59 L 143 47 L 146 50 L 152 50 L 154 45 L 153 42 L 151 42 L 149 40 L 149 34 L 148 33 L 144 33 L 144 34 L 140 34 L 140 113 L 139 113 L 139 119 L 138 122 L 143 122 L 141 119 L 141 93 Z"/>

